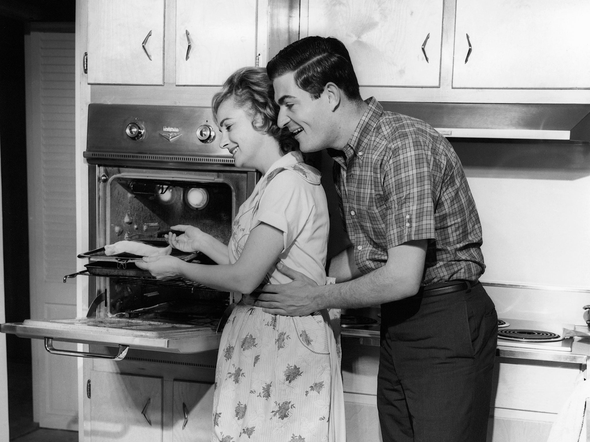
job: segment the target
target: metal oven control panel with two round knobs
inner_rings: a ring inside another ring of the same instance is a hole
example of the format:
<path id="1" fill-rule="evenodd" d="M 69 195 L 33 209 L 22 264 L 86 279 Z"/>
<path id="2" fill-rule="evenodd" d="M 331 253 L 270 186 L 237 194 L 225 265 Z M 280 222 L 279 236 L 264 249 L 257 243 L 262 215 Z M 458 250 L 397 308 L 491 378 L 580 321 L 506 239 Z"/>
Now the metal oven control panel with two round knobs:
<path id="1" fill-rule="evenodd" d="M 119 166 L 232 166 L 217 132 L 209 107 L 91 103 L 84 157 Z"/>

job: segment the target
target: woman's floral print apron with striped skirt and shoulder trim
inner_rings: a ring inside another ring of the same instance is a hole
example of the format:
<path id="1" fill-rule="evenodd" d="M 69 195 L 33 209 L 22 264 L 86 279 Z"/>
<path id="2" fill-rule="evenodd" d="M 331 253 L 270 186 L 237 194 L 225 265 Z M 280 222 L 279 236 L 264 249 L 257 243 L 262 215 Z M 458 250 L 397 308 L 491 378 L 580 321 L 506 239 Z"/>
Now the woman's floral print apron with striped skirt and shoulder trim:
<path id="1" fill-rule="evenodd" d="M 319 179 L 304 163 L 268 173 L 234 220 L 231 262 L 244 248 L 264 189 L 285 169 Z M 281 316 L 253 304 L 244 295 L 222 333 L 211 441 L 345 441 L 339 312 Z"/>

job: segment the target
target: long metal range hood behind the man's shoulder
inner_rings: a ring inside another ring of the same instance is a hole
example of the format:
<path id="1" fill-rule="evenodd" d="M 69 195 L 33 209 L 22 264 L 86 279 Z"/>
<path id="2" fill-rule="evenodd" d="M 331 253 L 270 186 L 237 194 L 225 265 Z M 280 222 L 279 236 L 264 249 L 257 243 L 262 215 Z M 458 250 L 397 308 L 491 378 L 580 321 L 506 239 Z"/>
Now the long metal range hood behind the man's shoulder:
<path id="1" fill-rule="evenodd" d="M 445 137 L 590 141 L 590 104 L 381 104 L 426 121 Z"/>

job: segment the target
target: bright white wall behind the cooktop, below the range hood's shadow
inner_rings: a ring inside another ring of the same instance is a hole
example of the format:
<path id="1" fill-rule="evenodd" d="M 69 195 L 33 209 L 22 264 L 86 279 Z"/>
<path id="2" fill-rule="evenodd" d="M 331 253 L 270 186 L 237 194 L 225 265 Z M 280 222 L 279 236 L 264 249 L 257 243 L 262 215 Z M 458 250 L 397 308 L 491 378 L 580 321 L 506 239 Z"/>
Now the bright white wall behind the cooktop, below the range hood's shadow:
<path id="1" fill-rule="evenodd" d="M 486 286 L 500 318 L 585 325 L 590 304 L 590 176 L 466 168 L 483 229 Z"/>

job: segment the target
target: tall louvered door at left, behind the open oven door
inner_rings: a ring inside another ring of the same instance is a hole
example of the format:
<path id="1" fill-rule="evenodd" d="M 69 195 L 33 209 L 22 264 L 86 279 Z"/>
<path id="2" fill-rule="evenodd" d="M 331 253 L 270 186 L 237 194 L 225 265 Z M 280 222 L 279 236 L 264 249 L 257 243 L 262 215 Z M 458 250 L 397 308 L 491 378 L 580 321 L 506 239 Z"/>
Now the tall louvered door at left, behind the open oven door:
<path id="1" fill-rule="evenodd" d="M 32 32 L 25 40 L 31 318 L 76 316 L 74 34 Z M 75 344 L 60 348 L 76 349 Z M 32 341 L 34 420 L 78 427 L 77 362 Z"/>

